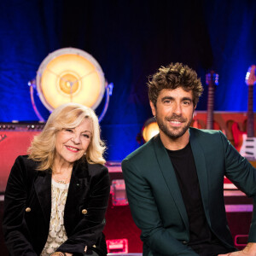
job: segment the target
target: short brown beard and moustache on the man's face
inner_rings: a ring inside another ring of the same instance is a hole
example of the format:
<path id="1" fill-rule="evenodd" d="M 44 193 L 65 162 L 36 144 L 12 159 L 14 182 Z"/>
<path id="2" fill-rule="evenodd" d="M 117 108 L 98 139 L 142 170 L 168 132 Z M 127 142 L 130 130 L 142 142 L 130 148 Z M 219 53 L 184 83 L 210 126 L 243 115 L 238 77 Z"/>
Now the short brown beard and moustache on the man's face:
<path id="1" fill-rule="evenodd" d="M 173 127 L 172 131 L 171 129 L 168 129 L 167 125 L 162 122 L 160 119 L 158 119 L 157 115 L 155 116 L 156 122 L 160 128 L 161 131 L 163 131 L 167 137 L 170 137 L 172 139 L 177 139 L 178 137 L 182 137 L 183 134 L 188 131 L 189 126 L 191 125 L 191 122 L 193 120 L 193 117 L 189 120 L 188 124 L 184 126 L 182 129 L 180 127 Z M 166 117 L 165 120 L 167 122 L 170 122 L 172 120 L 180 121 L 180 122 L 187 122 L 188 119 L 183 118 L 182 116 L 177 115 L 176 113 L 172 114 L 172 117 Z M 180 130 L 180 131 L 179 131 Z M 177 132 L 175 132 L 177 131 Z"/>

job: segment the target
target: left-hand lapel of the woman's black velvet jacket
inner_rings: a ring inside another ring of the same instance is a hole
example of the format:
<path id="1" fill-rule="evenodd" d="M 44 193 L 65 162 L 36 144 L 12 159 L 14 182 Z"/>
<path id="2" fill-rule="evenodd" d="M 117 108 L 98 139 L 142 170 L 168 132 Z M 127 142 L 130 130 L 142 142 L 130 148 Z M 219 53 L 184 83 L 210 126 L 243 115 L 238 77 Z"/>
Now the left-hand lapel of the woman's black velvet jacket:
<path id="1" fill-rule="evenodd" d="M 51 173 L 49 171 L 38 172 L 38 177 L 34 183 L 34 189 L 38 196 L 38 201 L 44 212 L 44 219 L 49 225 L 51 212 Z"/>

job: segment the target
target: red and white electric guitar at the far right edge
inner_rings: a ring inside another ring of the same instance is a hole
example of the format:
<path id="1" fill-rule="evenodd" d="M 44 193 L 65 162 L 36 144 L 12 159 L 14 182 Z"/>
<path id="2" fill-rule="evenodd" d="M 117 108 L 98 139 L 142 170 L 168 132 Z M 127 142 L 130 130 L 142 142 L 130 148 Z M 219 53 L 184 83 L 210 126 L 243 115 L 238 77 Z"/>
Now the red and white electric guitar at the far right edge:
<path id="1" fill-rule="evenodd" d="M 248 85 L 247 132 L 240 131 L 237 123 L 232 125 L 232 133 L 236 149 L 247 160 L 256 160 L 256 137 L 254 137 L 253 85 L 256 83 L 256 66 L 248 68 L 245 79 Z"/>

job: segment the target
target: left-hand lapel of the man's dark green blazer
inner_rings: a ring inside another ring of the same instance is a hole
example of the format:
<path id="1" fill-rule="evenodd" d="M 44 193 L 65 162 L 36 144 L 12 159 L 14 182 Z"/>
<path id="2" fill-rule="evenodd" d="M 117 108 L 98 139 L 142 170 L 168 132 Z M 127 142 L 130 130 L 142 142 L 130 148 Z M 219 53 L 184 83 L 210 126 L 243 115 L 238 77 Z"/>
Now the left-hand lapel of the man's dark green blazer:
<path id="1" fill-rule="evenodd" d="M 166 148 L 164 147 L 164 145 L 160 140 L 159 135 L 157 137 L 154 137 L 154 151 L 156 154 L 156 158 L 158 160 L 158 164 L 160 166 L 160 171 L 162 172 L 163 177 L 166 180 L 166 184 L 172 194 L 173 200 L 177 205 L 177 209 L 179 210 L 180 215 L 183 218 L 183 222 L 187 230 L 189 230 L 189 218 L 183 203 L 183 197 L 181 195 L 181 192 L 177 183 L 177 177 L 174 172 L 172 162 L 166 152 Z"/>

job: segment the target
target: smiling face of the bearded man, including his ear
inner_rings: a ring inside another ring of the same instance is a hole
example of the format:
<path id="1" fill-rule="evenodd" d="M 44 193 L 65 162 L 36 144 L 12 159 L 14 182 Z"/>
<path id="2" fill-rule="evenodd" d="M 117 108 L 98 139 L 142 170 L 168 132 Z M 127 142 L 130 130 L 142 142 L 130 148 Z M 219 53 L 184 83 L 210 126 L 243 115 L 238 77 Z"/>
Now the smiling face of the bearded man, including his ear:
<path id="1" fill-rule="evenodd" d="M 192 90 L 186 91 L 182 87 L 177 89 L 163 89 L 157 98 L 156 107 L 150 102 L 152 113 L 160 128 L 160 134 L 169 138 L 183 137 L 188 131 L 195 110 Z"/>

